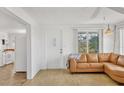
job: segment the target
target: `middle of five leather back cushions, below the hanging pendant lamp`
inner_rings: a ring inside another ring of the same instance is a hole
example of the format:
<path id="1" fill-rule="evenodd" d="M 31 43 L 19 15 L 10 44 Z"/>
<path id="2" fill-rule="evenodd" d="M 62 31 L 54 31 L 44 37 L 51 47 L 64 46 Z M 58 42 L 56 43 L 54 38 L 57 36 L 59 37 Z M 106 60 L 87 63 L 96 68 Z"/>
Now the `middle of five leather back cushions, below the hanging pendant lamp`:
<path id="1" fill-rule="evenodd" d="M 99 53 L 98 58 L 99 62 L 109 62 L 110 61 L 110 53 Z"/>

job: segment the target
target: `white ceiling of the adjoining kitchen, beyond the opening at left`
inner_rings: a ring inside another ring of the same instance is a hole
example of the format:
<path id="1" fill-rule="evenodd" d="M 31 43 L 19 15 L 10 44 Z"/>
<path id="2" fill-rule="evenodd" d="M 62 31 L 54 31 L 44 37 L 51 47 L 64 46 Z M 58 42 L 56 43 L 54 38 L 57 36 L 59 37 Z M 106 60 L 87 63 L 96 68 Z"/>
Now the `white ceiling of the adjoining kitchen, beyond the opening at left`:
<path id="1" fill-rule="evenodd" d="M 18 33 L 24 29 L 25 26 L 22 23 L 0 10 L 0 32 Z"/>

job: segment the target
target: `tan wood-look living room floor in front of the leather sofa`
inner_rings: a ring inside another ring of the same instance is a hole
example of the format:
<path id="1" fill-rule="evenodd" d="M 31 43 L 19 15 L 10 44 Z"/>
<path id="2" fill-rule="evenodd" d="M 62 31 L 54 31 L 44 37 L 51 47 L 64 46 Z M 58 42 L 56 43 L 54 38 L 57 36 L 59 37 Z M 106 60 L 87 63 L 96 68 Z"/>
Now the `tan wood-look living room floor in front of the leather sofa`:
<path id="1" fill-rule="evenodd" d="M 67 70 L 41 70 L 24 85 L 33 86 L 118 86 L 104 73 L 70 74 Z"/>

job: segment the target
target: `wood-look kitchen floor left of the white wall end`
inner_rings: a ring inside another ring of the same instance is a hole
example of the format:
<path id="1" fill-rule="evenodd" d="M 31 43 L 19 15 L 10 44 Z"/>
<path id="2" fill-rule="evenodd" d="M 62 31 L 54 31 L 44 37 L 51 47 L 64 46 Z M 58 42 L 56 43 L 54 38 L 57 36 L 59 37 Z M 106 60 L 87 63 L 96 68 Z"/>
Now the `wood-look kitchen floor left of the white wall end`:
<path id="1" fill-rule="evenodd" d="M 13 73 L 13 64 L 0 67 L 0 86 L 21 86 L 26 82 L 26 73 Z"/>

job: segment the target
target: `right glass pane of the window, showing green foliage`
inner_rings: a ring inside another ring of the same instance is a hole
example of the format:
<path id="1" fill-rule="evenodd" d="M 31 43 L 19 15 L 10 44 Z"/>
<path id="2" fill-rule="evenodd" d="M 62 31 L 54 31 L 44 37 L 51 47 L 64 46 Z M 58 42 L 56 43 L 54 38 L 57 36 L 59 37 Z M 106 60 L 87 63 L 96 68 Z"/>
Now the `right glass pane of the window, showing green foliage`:
<path id="1" fill-rule="evenodd" d="M 99 34 L 97 32 L 88 33 L 88 48 L 89 53 L 99 52 Z"/>

